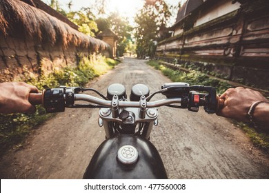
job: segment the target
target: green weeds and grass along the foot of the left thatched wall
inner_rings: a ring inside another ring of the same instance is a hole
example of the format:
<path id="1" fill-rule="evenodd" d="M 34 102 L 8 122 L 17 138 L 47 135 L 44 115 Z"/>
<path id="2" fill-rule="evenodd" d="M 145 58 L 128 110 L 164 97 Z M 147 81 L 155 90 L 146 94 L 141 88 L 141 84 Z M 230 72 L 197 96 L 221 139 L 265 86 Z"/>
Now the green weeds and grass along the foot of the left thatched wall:
<path id="1" fill-rule="evenodd" d="M 76 68 L 63 68 L 56 70 L 48 75 L 41 75 L 39 79 L 26 76 L 24 81 L 37 86 L 39 90 L 46 88 L 57 88 L 59 85 L 66 86 L 83 86 L 86 85 L 94 77 L 106 73 L 114 68 L 119 62 L 105 57 L 97 56 L 97 59 L 81 59 Z M 25 72 L 28 73 L 28 72 Z M 26 136 L 37 125 L 55 116 L 55 114 L 46 114 L 46 110 L 37 105 L 37 111 L 34 114 L 0 114 L 0 156 L 2 156 L 11 147 L 18 149 L 23 146 Z"/>

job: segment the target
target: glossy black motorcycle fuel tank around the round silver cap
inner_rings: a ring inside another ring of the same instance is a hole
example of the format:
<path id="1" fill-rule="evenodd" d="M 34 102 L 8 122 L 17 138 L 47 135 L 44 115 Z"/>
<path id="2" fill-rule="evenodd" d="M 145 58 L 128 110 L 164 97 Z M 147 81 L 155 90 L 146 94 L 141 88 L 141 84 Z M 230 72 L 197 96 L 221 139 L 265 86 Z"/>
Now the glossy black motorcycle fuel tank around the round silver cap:
<path id="1" fill-rule="evenodd" d="M 117 159 L 123 145 L 137 148 L 136 163 L 126 165 Z M 92 156 L 83 179 L 167 179 L 161 156 L 142 136 L 119 134 L 103 141 Z"/>

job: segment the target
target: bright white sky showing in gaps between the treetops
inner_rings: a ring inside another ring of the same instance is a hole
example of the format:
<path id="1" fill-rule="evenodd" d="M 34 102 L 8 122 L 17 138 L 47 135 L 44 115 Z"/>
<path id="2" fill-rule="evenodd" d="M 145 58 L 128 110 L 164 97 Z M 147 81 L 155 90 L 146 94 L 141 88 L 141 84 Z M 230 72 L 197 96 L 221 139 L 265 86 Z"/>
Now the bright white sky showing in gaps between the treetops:
<path id="1" fill-rule="evenodd" d="M 45 3 L 49 3 L 50 0 L 42 0 Z M 58 0 L 59 5 L 63 10 L 69 10 L 68 3 L 71 0 Z M 108 12 L 115 12 L 118 11 L 119 14 L 123 17 L 127 17 L 130 21 L 130 24 L 134 23 L 134 18 L 137 10 L 140 10 L 143 7 L 143 0 L 108 0 Z M 186 1 L 186 0 L 166 0 L 166 3 L 172 6 L 176 6 L 179 1 Z M 72 0 L 72 7 L 71 10 L 77 11 L 83 7 L 88 7 L 94 0 Z M 175 23 L 175 18 L 177 17 L 177 12 L 174 13 L 174 17 L 170 21 L 170 26 Z"/>

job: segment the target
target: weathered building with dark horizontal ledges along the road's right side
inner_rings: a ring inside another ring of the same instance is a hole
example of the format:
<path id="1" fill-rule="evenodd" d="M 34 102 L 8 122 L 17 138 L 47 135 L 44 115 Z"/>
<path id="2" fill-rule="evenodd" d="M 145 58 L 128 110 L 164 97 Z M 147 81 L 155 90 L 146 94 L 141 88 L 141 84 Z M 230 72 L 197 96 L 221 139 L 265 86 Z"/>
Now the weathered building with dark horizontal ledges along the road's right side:
<path id="1" fill-rule="evenodd" d="M 156 57 L 269 89 L 269 1 L 188 0 Z"/>

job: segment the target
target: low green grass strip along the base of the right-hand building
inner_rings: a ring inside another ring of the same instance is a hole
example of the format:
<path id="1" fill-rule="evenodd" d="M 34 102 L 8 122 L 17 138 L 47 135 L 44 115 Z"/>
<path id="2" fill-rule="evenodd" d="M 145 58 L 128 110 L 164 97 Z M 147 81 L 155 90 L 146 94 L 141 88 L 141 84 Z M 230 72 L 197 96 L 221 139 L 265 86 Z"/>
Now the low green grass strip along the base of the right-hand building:
<path id="1" fill-rule="evenodd" d="M 160 65 L 158 61 L 153 60 L 148 61 L 148 65 L 151 65 L 157 70 L 161 70 L 161 72 L 163 72 L 163 74 L 173 82 L 186 82 L 190 83 L 190 85 L 213 86 L 217 89 L 218 94 L 225 92 L 228 88 L 232 88 L 232 85 L 229 85 L 228 82 L 210 78 L 206 74 L 197 70 L 191 70 L 189 73 L 172 70 L 164 65 Z M 266 130 L 261 127 L 254 127 L 254 125 L 251 124 L 239 123 L 236 121 L 232 121 L 232 123 L 246 132 L 254 145 L 269 153 L 269 132 L 266 132 Z"/>

